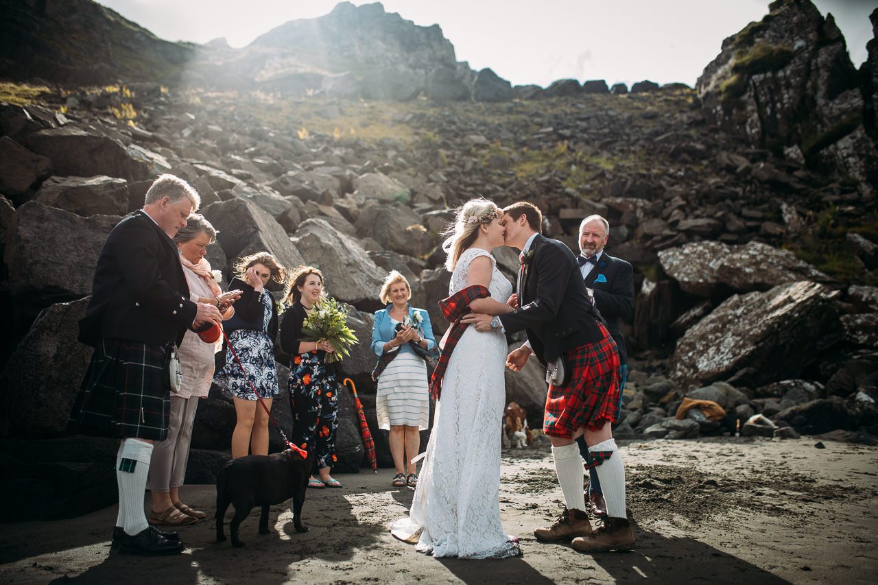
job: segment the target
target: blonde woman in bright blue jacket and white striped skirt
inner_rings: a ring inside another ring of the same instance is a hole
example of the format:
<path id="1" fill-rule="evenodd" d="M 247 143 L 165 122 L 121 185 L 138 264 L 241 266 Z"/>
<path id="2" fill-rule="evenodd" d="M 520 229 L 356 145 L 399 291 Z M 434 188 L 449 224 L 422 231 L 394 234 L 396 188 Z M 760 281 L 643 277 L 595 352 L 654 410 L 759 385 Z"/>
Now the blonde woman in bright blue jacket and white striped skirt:
<path id="1" fill-rule="evenodd" d="M 424 309 L 410 307 L 412 288 L 406 277 L 391 271 L 381 287 L 387 308 L 375 313 L 372 351 L 391 358 L 378 377 L 378 427 L 390 431 L 390 451 L 396 475 L 393 486 L 414 487 L 418 482 L 412 459 L 421 448 L 421 430 L 428 428 L 430 399 L 427 363 L 418 355 L 436 346 L 430 318 Z"/>

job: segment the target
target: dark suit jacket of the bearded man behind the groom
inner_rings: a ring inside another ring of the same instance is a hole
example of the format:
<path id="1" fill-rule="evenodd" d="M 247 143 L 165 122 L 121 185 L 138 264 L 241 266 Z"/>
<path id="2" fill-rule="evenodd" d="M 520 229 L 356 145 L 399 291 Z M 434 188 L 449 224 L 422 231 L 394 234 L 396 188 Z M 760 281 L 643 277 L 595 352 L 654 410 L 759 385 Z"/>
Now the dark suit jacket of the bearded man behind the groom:
<path id="1" fill-rule="evenodd" d="M 606 282 L 595 282 L 599 275 Z M 620 329 L 620 319 L 630 319 L 634 314 L 634 268 L 620 258 L 601 254 L 598 264 L 588 272 L 585 279 L 587 288 L 594 290 L 594 304 L 607 321 L 607 329 L 619 348 L 619 361 L 628 363 L 628 351 Z"/>

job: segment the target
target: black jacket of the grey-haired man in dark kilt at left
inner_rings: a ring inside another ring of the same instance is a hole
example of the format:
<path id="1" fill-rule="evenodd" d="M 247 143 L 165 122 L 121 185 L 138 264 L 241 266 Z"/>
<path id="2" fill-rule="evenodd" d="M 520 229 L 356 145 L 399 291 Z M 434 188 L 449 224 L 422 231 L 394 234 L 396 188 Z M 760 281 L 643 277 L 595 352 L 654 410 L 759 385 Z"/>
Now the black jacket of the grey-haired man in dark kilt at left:
<path id="1" fill-rule="evenodd" d="M 180 343 L 198 307 L 176 245 L 142 211 L 112 228 L 97 258 L 91 300 L 79 321 L 79 340 Z"/>

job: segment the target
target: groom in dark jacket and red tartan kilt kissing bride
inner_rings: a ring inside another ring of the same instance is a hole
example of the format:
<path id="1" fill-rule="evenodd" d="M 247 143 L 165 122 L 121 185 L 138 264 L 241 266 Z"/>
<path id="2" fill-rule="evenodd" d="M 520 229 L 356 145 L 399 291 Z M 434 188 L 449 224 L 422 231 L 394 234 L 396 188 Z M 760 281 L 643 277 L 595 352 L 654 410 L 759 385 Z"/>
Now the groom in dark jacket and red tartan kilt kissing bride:
<path id="1" fill-rule="evenodd" d="M 551 439 L 565 510 L 555 524 L 538 528 L 544 542 L 572 539 L 582 552 L 624 550 L 634 544 L 625 515 L 625 471 L 611 423 L 619 415 L 619 356 L 601 314 L 589 302 L 576 257 L 564 243 L 541 235 L 543 214 L 528 202 L 503 210 L 506 245 L 522 249 L 517 306 L 492 318 L 471 314 L 464 321 L 485 331 L 502 326 L 507 333 L 526 329 L 528 342 L 507 357 L 522 369 L 531 353 L 543 365 L 564 356 L 571 371 L 564 385 L 550 385 L 543 430 Z M 510 300 L 515 305 L 516 300 Z M 582 493 L 584 470 L 574 439 L 585 436 L 601 478 L 608 518 L 593 531 Z"/>

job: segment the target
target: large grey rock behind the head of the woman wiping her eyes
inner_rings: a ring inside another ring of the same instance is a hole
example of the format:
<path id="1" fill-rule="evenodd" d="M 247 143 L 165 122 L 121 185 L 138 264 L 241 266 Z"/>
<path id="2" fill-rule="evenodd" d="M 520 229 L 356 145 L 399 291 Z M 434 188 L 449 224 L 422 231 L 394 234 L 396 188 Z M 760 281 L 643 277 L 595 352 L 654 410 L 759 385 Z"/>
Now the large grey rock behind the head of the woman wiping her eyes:
<path id="1" fill-rule="evenodd" d="M 253 202 L 244 199 L 220 201 L 206 206 L 201 213 L 219 230 L 217 240 L 229 259 L 266 250 L 287 268 L 303 263 L 302 255 L 284 228 Z"/>

